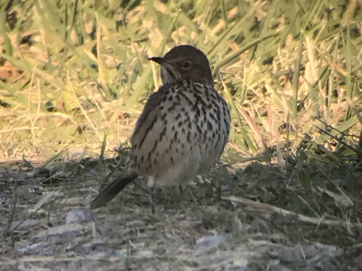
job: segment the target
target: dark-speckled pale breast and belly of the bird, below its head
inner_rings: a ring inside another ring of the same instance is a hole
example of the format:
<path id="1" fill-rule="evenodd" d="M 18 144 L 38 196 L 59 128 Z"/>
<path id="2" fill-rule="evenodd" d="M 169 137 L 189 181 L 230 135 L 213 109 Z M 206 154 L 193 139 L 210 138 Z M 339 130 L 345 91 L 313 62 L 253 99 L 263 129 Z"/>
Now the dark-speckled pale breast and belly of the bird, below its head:
<path id="1" fill-rule="evenodd" d="M 131 159 L 139 174 L 156 184 L 180 184 L 219 159 L 230 115 L 211 84 L 186 82 L 160 90 L 159 102 L 132 136 Z"/>

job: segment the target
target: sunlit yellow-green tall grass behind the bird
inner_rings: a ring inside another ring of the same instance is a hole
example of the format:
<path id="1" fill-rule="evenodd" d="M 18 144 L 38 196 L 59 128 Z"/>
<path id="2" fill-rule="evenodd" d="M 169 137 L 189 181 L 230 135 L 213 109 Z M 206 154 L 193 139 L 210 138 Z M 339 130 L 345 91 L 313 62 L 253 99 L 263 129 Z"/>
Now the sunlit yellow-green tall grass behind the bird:
<path id="1" fill-rule="evenodd" d="M 160 84 L 147 57 L 176 44 L 207 54 L 231 105 L 225 159 L 361 154 L 361 14 L 357 1 L 9 1 L 0 155 L 114 149 Z"/>

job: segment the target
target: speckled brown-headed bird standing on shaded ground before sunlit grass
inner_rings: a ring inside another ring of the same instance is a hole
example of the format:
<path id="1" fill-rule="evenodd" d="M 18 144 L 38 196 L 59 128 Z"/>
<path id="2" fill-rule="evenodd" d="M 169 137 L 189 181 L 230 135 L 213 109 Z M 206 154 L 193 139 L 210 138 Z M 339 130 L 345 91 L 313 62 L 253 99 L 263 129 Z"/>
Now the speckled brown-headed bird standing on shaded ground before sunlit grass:
<path id="1" fill-rule="evenodd" d="M 161 66 L 163 85 L 150 95 L 131 136 L 123 170 L 90 204 L 105 206 L 138 176 L 148 186 L 184 185 L 220 158 L 230 132 L 230 110 L 215 90 L 209 60 L 191 45 L 173 47 Z"/>

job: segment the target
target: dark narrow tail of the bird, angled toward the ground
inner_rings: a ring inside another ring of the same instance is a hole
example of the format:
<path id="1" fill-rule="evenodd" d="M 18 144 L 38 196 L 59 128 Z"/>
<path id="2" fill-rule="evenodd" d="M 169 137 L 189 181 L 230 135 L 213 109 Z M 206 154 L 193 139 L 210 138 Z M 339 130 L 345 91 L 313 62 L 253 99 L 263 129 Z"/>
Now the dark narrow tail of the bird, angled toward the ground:
<path id="1" fill-rule="evenodd" d="M 125 175 L 126 174 L 126 175 Z M 136 173 L 121 173 L 113 182 L 98 194 L 98 196 L 90 203 L 90 210 L 105 206 L 110 202 L 127 184 L 133 181 L 138 175 Z"/>

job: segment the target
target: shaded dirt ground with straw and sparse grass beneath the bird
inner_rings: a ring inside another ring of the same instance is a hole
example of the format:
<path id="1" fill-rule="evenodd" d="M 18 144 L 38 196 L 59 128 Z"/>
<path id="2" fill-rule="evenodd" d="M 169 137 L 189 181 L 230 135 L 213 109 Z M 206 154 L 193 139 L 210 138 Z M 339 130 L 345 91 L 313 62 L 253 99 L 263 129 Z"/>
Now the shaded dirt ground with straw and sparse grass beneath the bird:
<path id="1" fill-rule="evenodd" d="M 114 164 L 3 163 L 0 270 L 362 268 L 359 164 L 218 165 L 158 189 L 154 214 L 142 179 L 89 211 Z"/>

